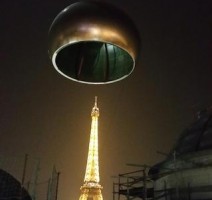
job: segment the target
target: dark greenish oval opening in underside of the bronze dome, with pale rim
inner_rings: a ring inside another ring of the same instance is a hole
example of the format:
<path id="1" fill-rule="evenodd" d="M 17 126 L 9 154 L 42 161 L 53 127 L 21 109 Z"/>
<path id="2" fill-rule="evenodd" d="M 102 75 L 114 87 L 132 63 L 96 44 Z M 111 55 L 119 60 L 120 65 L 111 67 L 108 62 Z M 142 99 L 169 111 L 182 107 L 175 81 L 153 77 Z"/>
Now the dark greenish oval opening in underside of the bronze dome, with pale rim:
<path id="1" fill-rule="evenodd" d="M 57 70 L 82 82 L 113 82 L 130 74 L 131 57 L 121 48 L 101 42 L 80 42 L 58 52 Z"/>

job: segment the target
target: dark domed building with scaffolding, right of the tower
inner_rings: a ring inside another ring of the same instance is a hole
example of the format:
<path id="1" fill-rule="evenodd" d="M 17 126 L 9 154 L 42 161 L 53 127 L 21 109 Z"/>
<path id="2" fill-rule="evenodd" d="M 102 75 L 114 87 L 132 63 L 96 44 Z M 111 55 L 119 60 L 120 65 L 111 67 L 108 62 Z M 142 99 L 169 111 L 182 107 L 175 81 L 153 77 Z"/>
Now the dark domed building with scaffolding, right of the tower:
<path id="1" fill-rule="evenodd" d="M 212 199 L 212 109 L 198 112 L 164 161 L 141 167 L 119 175 L 114 198 L 118 194 L 144 200 Z"/>

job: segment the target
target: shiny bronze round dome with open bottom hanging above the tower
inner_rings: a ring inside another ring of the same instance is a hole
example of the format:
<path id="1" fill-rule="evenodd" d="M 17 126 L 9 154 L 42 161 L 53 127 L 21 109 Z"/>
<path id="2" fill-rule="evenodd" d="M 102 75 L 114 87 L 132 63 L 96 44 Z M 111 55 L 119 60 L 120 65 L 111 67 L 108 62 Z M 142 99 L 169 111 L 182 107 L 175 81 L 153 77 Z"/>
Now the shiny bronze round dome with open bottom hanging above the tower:
<path id="1" fill-rule="evenodd" d="M 129 17 L 102 2 L 70 5 L 49 30 L 49 56 L 55 69 L 82 83 L 124 79 L 135 67 L 139 48 L 139 34 Z"/>

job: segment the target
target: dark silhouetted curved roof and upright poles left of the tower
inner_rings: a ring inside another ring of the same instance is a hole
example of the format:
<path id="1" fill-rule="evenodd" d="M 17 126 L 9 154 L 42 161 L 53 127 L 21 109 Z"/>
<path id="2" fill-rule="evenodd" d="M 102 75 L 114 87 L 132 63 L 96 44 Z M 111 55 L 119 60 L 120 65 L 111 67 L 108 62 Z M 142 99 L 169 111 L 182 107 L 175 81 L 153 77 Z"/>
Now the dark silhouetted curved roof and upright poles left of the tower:
<path id="1" fill-rule="evenodd" d="M 53 167 L 48 180 L 40 180 L 40 160 L 0 156 L 0 200 L 57 200 L 59 175 Z"/>

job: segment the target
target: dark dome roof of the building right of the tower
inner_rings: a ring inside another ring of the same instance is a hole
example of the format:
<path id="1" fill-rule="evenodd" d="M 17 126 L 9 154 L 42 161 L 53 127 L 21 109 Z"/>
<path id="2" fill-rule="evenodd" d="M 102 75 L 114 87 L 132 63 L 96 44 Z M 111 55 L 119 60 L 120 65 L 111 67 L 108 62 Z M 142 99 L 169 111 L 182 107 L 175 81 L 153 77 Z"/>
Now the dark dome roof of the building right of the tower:
<path id="1" fill-rule="evenodd" d="M 212 109 L 197 113 L 195 121 L 180 135 L 167 158 L 154 165 L 149 175 L 157 178 L 173 170 L 212 164 Z"/>

